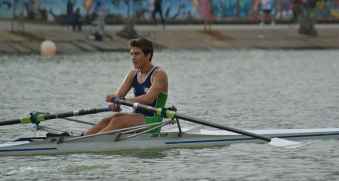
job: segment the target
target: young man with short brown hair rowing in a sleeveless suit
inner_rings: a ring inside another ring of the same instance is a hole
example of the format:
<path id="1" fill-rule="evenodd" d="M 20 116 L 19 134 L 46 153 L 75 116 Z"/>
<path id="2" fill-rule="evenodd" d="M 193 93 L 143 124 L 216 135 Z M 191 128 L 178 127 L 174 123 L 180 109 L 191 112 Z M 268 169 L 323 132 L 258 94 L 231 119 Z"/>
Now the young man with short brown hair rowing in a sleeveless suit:
<path id="1" fill-rule="evenodd" d="M 138 38 L 131 40 L 129 46 L 134 69 L 130 70 L 126 75 L 116 94 L 106 96 L 106 101 L 112 102 L 113 98 L 125 97 L 133 87 L 135 97 L 126 100 L 157 108 L 164 108 L 167 101 L 169 83 L 166 72 L 151 62 L 153 57 L 152 41 L 145 38 Z M 109 109 L 118 113 L 102 119 L 98 124 L 83 134 L 90 135 L 163 121 L 161 116 L 154 113 L 135 109 L 133 113 L 127 114 L 120 113 L 122 109 L 117 110 L 117 108 L 118 104 L 110 104 Z M 161 128 L 157 128 L 152 132 L 159 132 L 160 129 Z"/>

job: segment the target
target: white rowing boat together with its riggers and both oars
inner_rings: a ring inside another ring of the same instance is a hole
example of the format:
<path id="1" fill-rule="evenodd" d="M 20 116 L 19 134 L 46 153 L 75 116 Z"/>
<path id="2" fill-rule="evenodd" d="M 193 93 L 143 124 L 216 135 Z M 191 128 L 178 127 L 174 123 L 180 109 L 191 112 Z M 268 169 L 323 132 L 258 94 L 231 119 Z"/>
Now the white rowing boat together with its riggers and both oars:
<path id="1" fill-rule="evenodd" d="M 177 114 L 171 110 L 157 109 L 150 106 L 133 103 L 125 100 L 115 100 L 115 102 L 136 109 L 143 109 L 155 112 L 164 117 L 171 118 L 169 121 L 153 123 L 147 125 L 134 126 L 124 129 L 112 130 L 93 135 L 80 136 L 56 136 L 56 137 L 28 137 L 19 138 L 11 142 L 0 144 L 0 156 L 3 155 L 41 155 L 41 154 L 64 154 L 82 152 L 111 152 L 133 149 L 170 149 L 170 148 L 192 148 L 225 146 L 234 143 L 265 143 L 281 148 L 297 148 L 311 144 L 312 142 L 296 142 L 295 140 L 307 139 L 338 139 L 339 128 L 304 128 L 304 129 L 253 129 L 240 130 L 221 124 L 211 123 L 194 119 L 192 117 Z M 55 115 L 42 114 L 31 115 L 31 117 L 19 120 L 2 121 L 0 125 L 7 125 L 18 122 L 35 123 L 37 128 L 51 130 L 48 127 L 38 125 L 40 121 L 86 114 L 96 114 L 108 109 L 81 110 L 72 113 L 60 113 Z M 185 121 L 199 123 L 200 125 L 180 127 L 179 118 Z M 82 123 L 86 123 L 82 121 Z M 177 124 L 176 128 L 167 129 L 159 133 L 150 133 L 147 127 L 162 127 L 168 124 Z M 208 130 L 201 128 L 207 125 L 223 130 Z M 51 132 L 51 131 L 48 131 Z M 137 133 L 139 132 L 139 133 Z M 34 132 L 35 135 L 35 132 Z M 294 141 L 291 141 L 294 140 Z"/>

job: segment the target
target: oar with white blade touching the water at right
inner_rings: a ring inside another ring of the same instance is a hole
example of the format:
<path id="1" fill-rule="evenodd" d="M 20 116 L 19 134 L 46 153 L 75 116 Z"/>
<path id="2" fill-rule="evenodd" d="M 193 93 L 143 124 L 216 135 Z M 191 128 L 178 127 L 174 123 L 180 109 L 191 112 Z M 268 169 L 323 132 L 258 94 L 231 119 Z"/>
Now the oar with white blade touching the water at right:
<path id="1" fill-rule="evenodd" d="M 133 107 L 135 109 L 140 109 L 140 110 L 143 110 L 143 111 L 156 113 L 156 114 L 162 116 L 162 112 L 163 112 L 162 108 L 155 108 L 155 107 L 152 107 L 152 106 L 139 104 L 139 103 L 136 103 L 136 102 L 127 101 L 127 100 L 123 100 L 123 99 L 117 99 L 117 98 L 112 99 L 112 101 L 114 103 L 119 103 L 119 104 L 122 104 L 122 105 Z M 171 111 L 171 110 L 165 110 L 165 113 L 166 113 L 166 116 L 168 118 L 177 118 L 177 119 L 181 119 L 181 120 L 185 120 L 185 121 L 195 122 L 195 123 L 198 123 L 198 124 L 202 124 L 202 125 L 206 125 L 206 126 L 210 126 L 210 127 L 215 127 L 215 128 L 218 128 L 218 129 L 223 129 L 223 130 L 235 132 L 235 133 L 238 133 L 238 134 L 258 138 L 258 139 L 261 139 L 261 140 L 264 140 L 264 141 L 268 141 L 269 144 L 272 145 L 272 146 L 276 146 L 276 147 L 280 147 L 280 148 L 298 148 L 298 147 L 301 147 L 301 146 L 312 144 L 312 143 L 301 143 L 301 142 L 296 142 L 296 141 L 290 141 L 290 140 L 276 138 L 276 137 L 270 138 L 268 136 L 255 134 L 255 133 L 244 131 L 244 130 L 237 129 L 237 128 L 228 127 L 228 126 L 217 124 L 217 123 L 214 123 L 214 122 L 204 121 L 204 120 L 201 120 L 201 119 L 181 115 L 181 114 L 178 114 L 178 113 Z"/>

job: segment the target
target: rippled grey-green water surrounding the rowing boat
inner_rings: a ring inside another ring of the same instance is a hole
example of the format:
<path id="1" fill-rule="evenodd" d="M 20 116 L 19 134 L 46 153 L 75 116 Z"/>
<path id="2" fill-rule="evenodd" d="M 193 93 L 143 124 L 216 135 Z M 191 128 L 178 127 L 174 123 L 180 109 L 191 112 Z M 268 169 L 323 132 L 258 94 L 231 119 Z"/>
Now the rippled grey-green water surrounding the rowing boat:
<path id="1" fill-rule="evenodd" d="M 339 51 L 160 51 L 168 106 L 236 128 L 339 127 Z M 0 121 L 108 104 L 132 68 L 129 53 L 0 56 Z M 132 94 L 129 94 L 132 96 Z M 124 111 L 131 111 L 123 107 Z M 107 113 L 78 117 L 96 122 Z M 88 125 L 41 123 L 82 132 Z M 181 121 L 184 125 L 193 123 Z M 166 128 L 164 128 L 166 129 Z M 0 127 L 0 142 L 32 136 Z M 44 135 L 44 132 L 38 132 Z M 267 144 L 203 149 L 0 157 L 0 181 L 338 181 L 338 140 L 284 150 Z"/>

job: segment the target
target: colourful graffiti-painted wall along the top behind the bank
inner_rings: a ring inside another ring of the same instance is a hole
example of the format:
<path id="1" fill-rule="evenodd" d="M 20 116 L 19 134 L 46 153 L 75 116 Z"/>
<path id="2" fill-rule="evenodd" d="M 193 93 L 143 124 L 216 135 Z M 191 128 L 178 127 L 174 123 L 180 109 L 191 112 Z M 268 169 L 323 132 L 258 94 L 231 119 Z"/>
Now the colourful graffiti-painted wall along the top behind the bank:
<path id="1" fill-rule="evenodd" d="M 270 0 L 277 20 L 291 19 L 293 7 L 293 0 Z M 319 0 L 316 7 L 318 18 L 339 19 L 339 0 Z M 0 18 L 14 15 L 62 23 L 78 8 L 87 21 L 97 14 L 106 22 L 122 22 L 129 15 L 136 21 L 152 21 L 153 15 L 159 19 L 160 14 L 167 21 L 206 17 L 214 21 L 258 20 L 263 11 L 261 0 L 18 0 L 15 4 L 14 0 L 0 0 Z"/>

